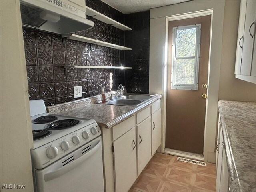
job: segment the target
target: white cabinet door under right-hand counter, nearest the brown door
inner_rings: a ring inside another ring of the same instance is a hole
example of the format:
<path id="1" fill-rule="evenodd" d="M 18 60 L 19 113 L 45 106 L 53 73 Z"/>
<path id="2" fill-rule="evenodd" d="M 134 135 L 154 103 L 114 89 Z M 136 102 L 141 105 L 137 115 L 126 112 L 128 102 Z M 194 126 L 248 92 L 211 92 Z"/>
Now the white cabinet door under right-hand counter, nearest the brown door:
<path id="1" fill-rule="evenodd" d="M 220 192 L 222 153 L 223 153 L 222 142 L 223 142 L 223 135 L 222 135 L 222 128 L 220 126 L 220 144 L 219 144 L 218 164 L 217 164 L 217 172 L 216 172 L 216 191 L 217 192 Z"/>

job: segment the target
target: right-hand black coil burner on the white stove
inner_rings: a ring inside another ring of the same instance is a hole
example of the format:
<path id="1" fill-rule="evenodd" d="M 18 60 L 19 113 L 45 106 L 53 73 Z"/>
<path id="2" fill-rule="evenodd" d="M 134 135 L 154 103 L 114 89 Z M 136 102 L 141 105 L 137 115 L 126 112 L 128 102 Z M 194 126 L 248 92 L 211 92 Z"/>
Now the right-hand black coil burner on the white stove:
<path id="1" fill-rule="evenodd" d="M 59 121 L 55 121 L 48 126 L 46 126 L 46 129 L 48 130 L 61 130 L 61 129 L 67 129 L 72 126 L 75 126 L 79 124 L 80 121 L 77 119 L 63 119 Z"/>

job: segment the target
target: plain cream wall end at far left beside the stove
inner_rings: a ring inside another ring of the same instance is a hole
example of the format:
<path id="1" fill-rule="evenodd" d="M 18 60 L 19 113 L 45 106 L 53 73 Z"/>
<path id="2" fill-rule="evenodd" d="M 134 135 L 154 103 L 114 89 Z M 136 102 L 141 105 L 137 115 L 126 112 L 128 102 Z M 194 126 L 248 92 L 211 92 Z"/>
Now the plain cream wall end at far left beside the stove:
<path id="1" fill-rule="evenodd" d="M 33 191 L 30 147 L 33 144 L 19 1 L 1 0 L 1 184 Z"/>

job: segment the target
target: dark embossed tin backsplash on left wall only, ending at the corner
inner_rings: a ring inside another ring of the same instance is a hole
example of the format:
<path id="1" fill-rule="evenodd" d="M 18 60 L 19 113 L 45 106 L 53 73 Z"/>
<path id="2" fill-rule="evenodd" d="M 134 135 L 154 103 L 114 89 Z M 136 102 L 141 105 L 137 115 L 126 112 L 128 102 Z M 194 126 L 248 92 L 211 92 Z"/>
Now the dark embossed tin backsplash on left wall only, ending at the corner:
<path id="1" fill-rule="evenodd" d="M 124 14 L 101 1 L 86 1 L 86 5 L 124 23 Z M 89 17 L 87 17 L 89 18 Z M 94 18 L 95 26 L 78 32 L 81 36 L 124 45 L 124 32 Z M 65 65 L 120 66 L 124 51 L 61 38 L 60 35 L 23 28 L 29 99 L 43 99 L 46 106 L 74 100 L 73 86 L 82 86 L 83 98 L 116 90 L 120 70 L 72 69 L 64 74 Z M 76 98 L 80 99 L 80 98 Z"/>

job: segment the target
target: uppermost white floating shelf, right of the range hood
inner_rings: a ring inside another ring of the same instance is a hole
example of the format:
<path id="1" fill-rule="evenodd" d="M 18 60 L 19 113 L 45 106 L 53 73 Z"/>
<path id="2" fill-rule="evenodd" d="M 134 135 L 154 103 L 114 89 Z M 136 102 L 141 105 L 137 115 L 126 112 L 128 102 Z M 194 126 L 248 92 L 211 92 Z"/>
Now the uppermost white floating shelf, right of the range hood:
<path id="1" fill-rule="evenodd" d="M 131 31 L 132 30 L 132 28 L 125 26 L 124 24 L 119 23 L 119 22 L 115 21 L 114 19 L 111 19 L 111 18 L 107 17 L 106 15 L 101 14 L 98 11 L 96 11 L 90 7 L 87 7 L 87 6 L 86 6 L 86 15 L 94 17 L 106 24 L 112 25 L 113 27 L 116 27 L 123 31 Z"/>

